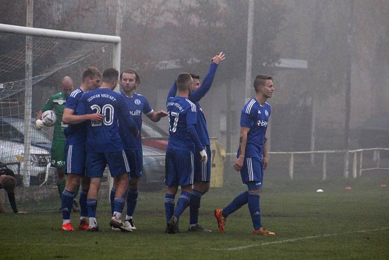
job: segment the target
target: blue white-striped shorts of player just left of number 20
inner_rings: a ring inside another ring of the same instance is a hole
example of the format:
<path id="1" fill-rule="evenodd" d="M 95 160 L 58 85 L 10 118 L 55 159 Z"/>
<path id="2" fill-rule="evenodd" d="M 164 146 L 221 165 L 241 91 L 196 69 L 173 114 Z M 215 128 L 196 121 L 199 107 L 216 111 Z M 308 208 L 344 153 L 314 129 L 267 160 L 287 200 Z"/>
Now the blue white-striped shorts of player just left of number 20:
<path id="1" fill-rule="evenodd" d="M 65 172 L 81 176 L 85 175 L 85 160 L 87 158 L 85 145 L 66 145 Z"/>

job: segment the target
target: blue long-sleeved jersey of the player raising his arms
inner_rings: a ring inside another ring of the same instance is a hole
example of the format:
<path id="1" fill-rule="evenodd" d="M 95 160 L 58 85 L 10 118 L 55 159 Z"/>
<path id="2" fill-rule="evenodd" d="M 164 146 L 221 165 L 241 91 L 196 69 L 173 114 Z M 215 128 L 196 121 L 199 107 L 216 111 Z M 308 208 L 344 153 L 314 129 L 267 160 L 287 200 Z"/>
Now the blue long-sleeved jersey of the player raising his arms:
<path id="1" fill-rule="evenodd" d="M 196 132 L 198 134 L 198 138 L 200 139 L 201 144 L 208 146 L 210 145 L 210 137 L 207 130 L 207 121 L 205 120 L 205 115 L 198 101 L 200 101 L 200 99 L 205 96 L 205 94 L 208 93 L 208 91 L 211 89 L 212 81 L 215 77 L 216 70 L 217 63 L 212 62 L 211 67 L 207 75 L 204 77 L 203 83 L 201 84 L 200 88 L 189 94 L 189 100 L 195 103 L 195 106 L 197 108 Z M 176 96 L 176 92 L 177 83 L 174 82 L 171 90 L 169 91 L 168 97 Z"/>

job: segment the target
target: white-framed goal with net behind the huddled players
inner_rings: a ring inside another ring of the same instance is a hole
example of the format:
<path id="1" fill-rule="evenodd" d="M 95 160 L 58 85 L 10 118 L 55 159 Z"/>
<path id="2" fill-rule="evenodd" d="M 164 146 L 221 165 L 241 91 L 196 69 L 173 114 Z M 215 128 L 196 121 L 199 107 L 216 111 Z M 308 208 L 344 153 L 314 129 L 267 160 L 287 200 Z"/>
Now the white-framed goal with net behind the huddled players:
<path id="1" fill-rule="evenodd" d="M 50 208 L 57 207 L 56 172 L 50 164 L 53 127 L 36 130 L 36 113 L 52 94 L 61 92 L 63 76 L 70 76 L 77 88 L 83 70 L 89 66 L 101 72 L 108 67 L 119 69 L 116 60 L 120 58 L 120 38 L 9 27 L 0 28 L 0 163 L 15 173 L 19 210 L 28 209 L 30 202 L 42 201 Z M 26 64 L 26 34 L 33 42 L 31 64 Z M 30 76 L 26 76 L 26 66 L 32 68 Z M 32 91 L 26 91 L 28 88 Z M 105 182 L 102 192 L 107 189 Z"/>

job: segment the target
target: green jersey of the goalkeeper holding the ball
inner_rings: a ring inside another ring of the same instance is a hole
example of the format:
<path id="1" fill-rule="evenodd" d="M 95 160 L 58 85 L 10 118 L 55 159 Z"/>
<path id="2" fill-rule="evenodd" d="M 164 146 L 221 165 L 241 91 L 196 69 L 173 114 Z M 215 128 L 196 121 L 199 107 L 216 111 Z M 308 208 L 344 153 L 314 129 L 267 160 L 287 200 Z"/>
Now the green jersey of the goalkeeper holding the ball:
<path id="1" fill-rule="evenodd" d="M 62 123 L 62 116 L 66 105 L 66 96 L 64 93 L 56 93 L 50 96 L 46 104 L 43 106 L 42 111 L 53 110 L 57 116 L 57 120 L 54 125 L 54 140 L 66 140 L 64 135 L 64 129 L 68 126 Z"/>

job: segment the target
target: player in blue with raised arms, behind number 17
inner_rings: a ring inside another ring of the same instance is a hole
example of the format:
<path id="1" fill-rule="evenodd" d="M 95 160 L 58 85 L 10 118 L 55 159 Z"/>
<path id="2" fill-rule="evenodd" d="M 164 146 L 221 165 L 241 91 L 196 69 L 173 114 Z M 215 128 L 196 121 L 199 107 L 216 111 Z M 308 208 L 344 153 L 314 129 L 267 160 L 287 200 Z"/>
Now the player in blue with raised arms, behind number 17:
<path id="1" fill-rule="evenodd" d="M 200 151 L 195 149 L 194 186 L 191 192 L 191 200 L 189 203 L 190 220 L 189 220 L 188 231 L 211 232 L 211 230 L 205 229 L 200 224 L 198 224 L 198 212 L 200 208 L 200 200 L 202 195 L 204 195 L 209 190 L 210 181 L 211 181 L 211 148 L 210 148 L 211 143 L 210 143 L 210 137 L 207 130 L 207 121 L 205 119 L 203 110 L 198 102 L 211 89 L 212 81 L 216 74 L 217 66 L 224 59 L 225 59 L 225 55 L 222 52 L 218 53 L 216 56 L 212 58 L 212 64 L 201 86 L 199 80 L 200 77 L 195 74 L 191 74 L 194 84 L 192 86 L 191 93 L 189 94 L 189 100 L 195 104 L 197 110 L 196 132 L 210 160 L 207 160 L 207 163 L 201 161 L 200 153 L 199 153 Z M 168 93 L 168 97 L 175 97 L 176 92 L 177 92 L 177 84 L 176 82 L 174 82 L 171 90 Z"/>

